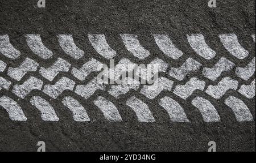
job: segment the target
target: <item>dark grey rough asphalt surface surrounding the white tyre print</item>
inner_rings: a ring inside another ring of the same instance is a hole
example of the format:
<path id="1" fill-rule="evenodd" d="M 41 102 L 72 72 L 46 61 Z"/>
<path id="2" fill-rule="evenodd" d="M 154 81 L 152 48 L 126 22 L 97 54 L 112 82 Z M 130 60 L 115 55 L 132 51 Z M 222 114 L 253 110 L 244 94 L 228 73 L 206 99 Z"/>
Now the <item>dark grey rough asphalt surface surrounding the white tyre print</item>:
<path id="1" fill-rule="evenodd" d="M 172 66 L 181 66 L 185 59 L 192 57 L 203 66 L 212 67 L 224 56 L 243 67 L 255 57 L 255 43 L 251 38 L 255 34 L 255 1 L 217 1 L 217 8 L 209 8 L 206 0 L 46 1 L 46 8 L 38 8 L 36 3 L 35 0 L 0 0 L 0 35 L 9 35 L 11 44 L 21 52 L 15 60 L 1 55 L 1 60 L 10 67 L 17 67 L 28 56 L 44 67 L 51 66 L 58 57 L 77 67 L 91 57 L 109 64 L 108 59 L 98 55 L 90 46 L 88 33 L 108 36 L 108 43 L 117 52 L 114 58 L 116 62 L 126 57 L 135 63 L 149 63 L 157 56 Z M 121 33 L 138 35 L 141 44 L 150 51 L 150 56 L 139 60 L 129 54 L 119 38 Z M 155 33 L 170 35 L 184 55 L 177 61 L 164 56 L 152 38 Z M 192 33 L 203 33 L 207 44 L 216 51 L 216 58 L 206 60 L 193 52 L 186 37 Z M 249 51 L 250 56 L 240 60 L 228 54 L 218 38 L 222 33 L 236 33 L 240 44 Z M 44 60 L 32 54 L 24 34 L 40 34 L 44 45 L 54 53 L 53 57 Z M 65 55 L 57 43 L 57 34 L 73 35 L 76 45 L 85 51 L 84 57 L 76 60 Z M 10 79 L 4 72 L 1 75 Z M 30 75 L 46 81 L 38 72 L 28 72 L 26 78 L 16 81 L 16 84 L 22 84 Z M 85 82 L 95 75 L 90 74 Z M 189 78 L 196 75 L 200 78 L 196 73 L 189 74 Z M 70 73 L 64 76 L 79 82 Z M 242 82 L 240 85 L 250 84 L 255 78 L 255 72 L 248 81 L 238 79 L 234 71 L 225 72 L 221 76 L 232 76 Z M 60 78 L 61 75 L 47 84 L 54 84 Z M 180 84 L 187 81 L 181 81 Z M 214 81 L 214 84 L 218 81 Z M 208 97 L 200 91 L 195 91 L 187 100 L 180 100 L 168 91 L 163 91 L 154 100 L 148 100 L 133 90 L 120 99 L 98 90 L 88 100 L 83 100 L 71 91 L 63 92 L 56 100 L 36 90 L 20 100 L 5 89 L 0 93 L 18 101 L 27 117 L 24 122 L 11 121 L 6 110 L 0 106 L 0 151 L 36 151 L 38 141 L 46 142 L 47 151 L 207 151 L 209 141 L 216 141 L 217 151 L 255 151 L 255 97 L 248 99 L 232 90 L 227 91 L 220 100 L 209 97 L 221 118 L 221 122 L 213 123 L 205 123 L 200 112 L 188 102 L 196 96 Z M 39 112 L 30 104 L 30 98 L 35 95 L 51 101 L 60 119 L 58 122 L 42 121 Z M 138 122 L 135 113 L 125 105 L 125 101 L 133 95 L 146 102 L 156 122 Z M 237 122 L 232 110 L 223 102 L 230 95 L 236 95 L 245 102 L 254 121 Z M 61 105 L 64 96 L 79 99 L 91 121 L 75 122 L 71 112 Z M 98 96 L 108 98 L 117 106 L 122 122 L 109 122 L 104 118 L 93 104 Z M 178 101 L 191 122 L 172 122 L 158 105 L 158 100 L 164 96 Z"/>

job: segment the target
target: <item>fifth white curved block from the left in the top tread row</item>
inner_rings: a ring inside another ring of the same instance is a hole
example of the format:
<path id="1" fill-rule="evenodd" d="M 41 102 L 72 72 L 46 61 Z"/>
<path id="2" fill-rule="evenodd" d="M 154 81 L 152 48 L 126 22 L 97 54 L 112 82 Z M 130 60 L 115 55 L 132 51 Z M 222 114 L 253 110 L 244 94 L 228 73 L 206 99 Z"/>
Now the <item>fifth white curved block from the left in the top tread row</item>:
<path id="1" fill-rule="evenodd" d="M 144 49 L 143 46 L 141 46 L 139 43 L 137 35 L 121 34 L 120 36 L 123 40 L 123 44 L 125 44 L 126 49 L 135 57 L 144 59 L 150 55 L 150 52 L 148 52 L 147 49 Z"/>

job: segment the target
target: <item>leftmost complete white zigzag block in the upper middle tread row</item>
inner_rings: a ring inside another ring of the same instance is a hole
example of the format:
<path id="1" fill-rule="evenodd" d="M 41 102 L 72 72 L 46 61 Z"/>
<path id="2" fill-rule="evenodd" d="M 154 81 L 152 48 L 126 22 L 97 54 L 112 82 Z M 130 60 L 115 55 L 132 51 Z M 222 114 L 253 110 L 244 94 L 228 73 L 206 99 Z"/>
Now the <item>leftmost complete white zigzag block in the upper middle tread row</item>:
<path id="1" fill-rule="evenodd" d="M 36 71 L 39 64 L 30 58 L 26 58 L 18 67 L 9 67 L 7 75 L 15 80 L 20 80 L 28 71 Z"/>

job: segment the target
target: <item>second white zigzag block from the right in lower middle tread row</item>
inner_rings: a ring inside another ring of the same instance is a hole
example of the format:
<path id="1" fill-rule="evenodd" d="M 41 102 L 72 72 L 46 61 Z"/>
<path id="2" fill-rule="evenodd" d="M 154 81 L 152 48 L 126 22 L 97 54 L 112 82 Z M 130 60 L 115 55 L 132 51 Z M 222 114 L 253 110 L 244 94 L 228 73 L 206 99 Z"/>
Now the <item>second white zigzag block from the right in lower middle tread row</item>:
<path id="1" fill-rule="evenodd" d="M 238 81 L 233 80 L 229 77 L 223 78 L 217 85 L 209 85 L 207 90 L 205 91 L 208 95 L 213 98 L 219 99 L 223 95 L 225 95 L 226 91 L 229 89 L 236 90 L 238 87 Z"/>

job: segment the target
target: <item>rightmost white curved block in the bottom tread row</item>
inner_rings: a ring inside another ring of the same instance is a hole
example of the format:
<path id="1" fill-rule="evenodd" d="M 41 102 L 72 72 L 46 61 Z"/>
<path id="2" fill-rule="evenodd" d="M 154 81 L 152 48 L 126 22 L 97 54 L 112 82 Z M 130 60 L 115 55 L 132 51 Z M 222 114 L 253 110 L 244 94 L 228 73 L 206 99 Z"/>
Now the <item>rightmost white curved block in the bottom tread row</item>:
<path id="1" fill-rule="evenodd" d="M 233 110 L 238 122 L 253 121 L 253 115 L 242 100 L 229 96 L 226 98 L 225 104 Z"/>

